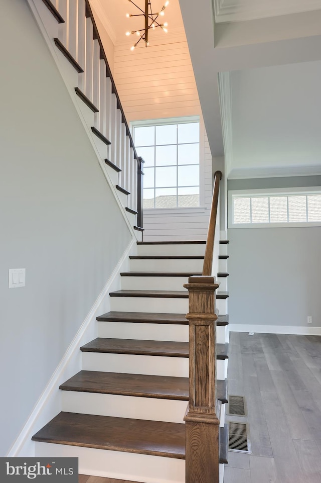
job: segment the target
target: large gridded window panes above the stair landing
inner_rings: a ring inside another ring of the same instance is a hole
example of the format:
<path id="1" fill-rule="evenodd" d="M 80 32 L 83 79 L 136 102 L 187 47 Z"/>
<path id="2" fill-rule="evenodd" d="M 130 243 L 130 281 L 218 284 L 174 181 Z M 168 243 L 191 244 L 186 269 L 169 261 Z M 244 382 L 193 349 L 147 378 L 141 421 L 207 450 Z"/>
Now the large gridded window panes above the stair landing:
<path id="1" fill-rule="evenodd" d="M 200 205 L 198 119 L 134 124 L 134 144 L 145 161 L 144 208 Z"/>

